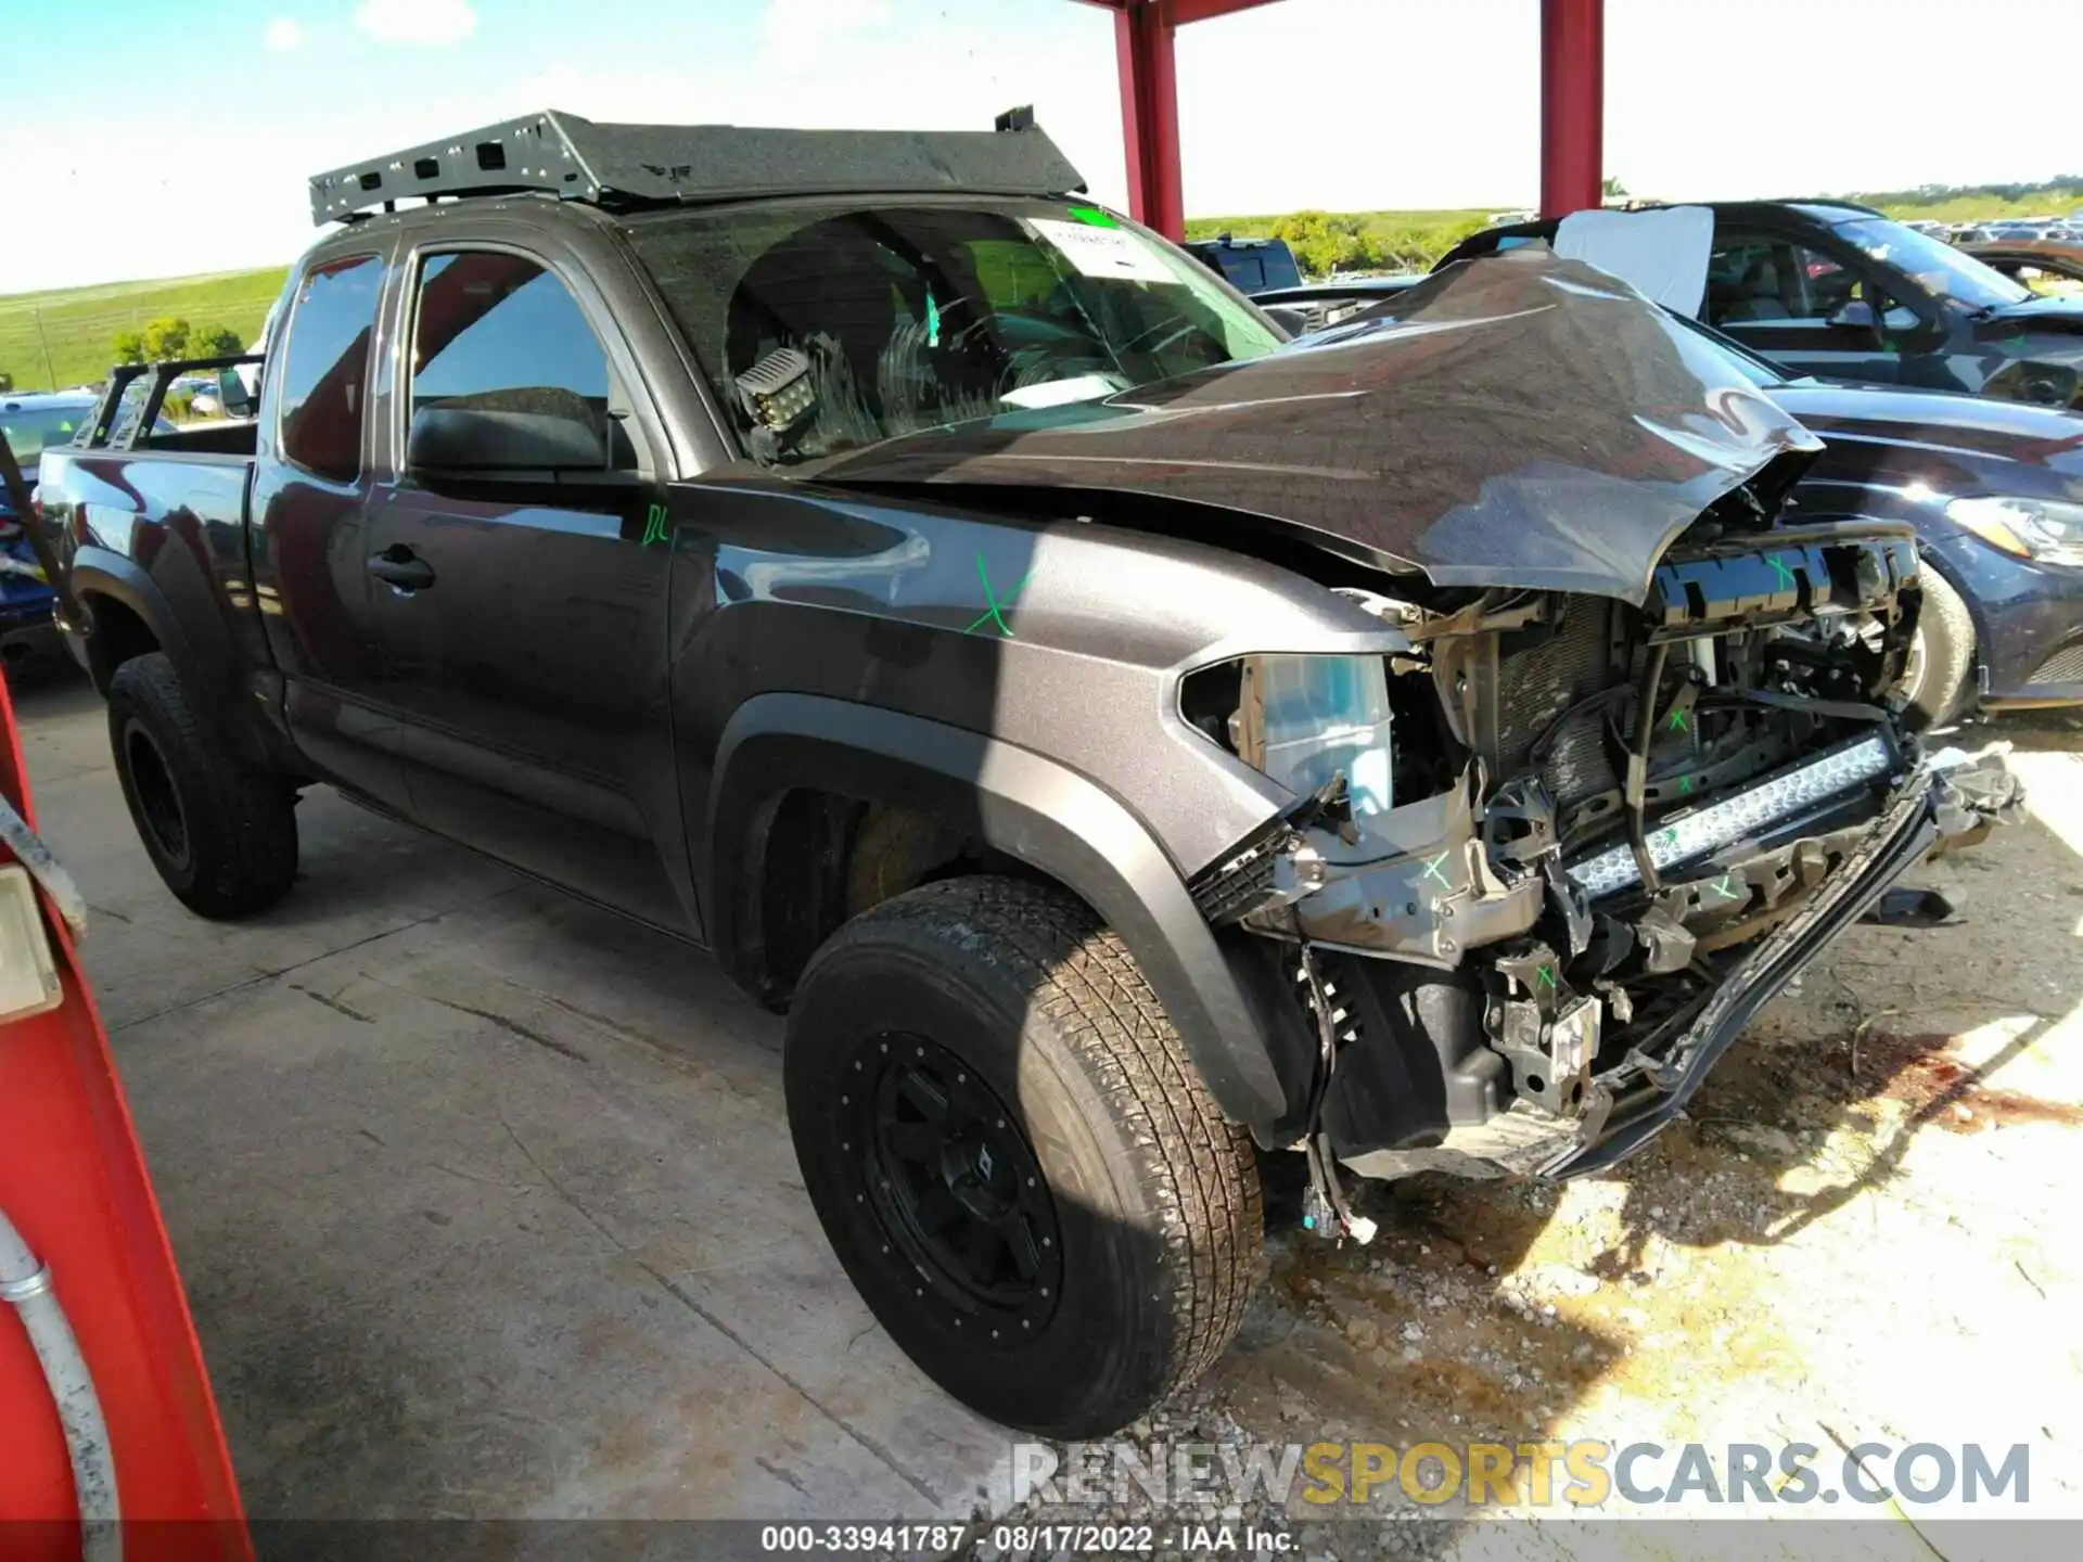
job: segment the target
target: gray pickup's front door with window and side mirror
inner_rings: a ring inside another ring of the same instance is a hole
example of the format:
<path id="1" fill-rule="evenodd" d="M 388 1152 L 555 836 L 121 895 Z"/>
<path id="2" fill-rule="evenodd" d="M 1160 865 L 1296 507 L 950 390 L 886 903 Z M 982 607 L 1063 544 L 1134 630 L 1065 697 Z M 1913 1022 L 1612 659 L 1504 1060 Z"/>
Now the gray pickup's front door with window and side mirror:
<path id="1" fill-rule="evenodd" d="M 575 262 L 460 244 L 410 264 L 367 571 L 415 814 L 698 931 L 660 852 L 671 548 L 633 356 Z"/>

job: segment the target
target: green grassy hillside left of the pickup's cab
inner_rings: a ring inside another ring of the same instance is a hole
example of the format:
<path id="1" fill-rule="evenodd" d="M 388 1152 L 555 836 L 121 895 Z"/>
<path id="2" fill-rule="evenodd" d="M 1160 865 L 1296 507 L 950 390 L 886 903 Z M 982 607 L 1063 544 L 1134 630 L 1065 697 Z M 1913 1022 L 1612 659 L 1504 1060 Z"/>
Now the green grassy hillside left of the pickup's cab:
<path id="1" fill-rule="evenodd" d="M 175 314 L 192 327 L 223 325 L 252 342 L 287 267 L 223 271 L 210 277 L 112 281 L 0 298 L 0 373 L 15 389 L 85 385 L 117 360 L 119 331 Z"/>

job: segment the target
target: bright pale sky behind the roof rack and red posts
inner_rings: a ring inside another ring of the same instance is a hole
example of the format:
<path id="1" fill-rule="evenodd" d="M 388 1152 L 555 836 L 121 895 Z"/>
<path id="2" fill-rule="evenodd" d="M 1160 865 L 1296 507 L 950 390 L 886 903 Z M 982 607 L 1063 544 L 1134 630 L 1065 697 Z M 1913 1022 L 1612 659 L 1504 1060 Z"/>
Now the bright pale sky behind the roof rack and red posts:
<path id="1" fill-rule="evenodd" d="M 290 260 L 304 179 L 533 108 L 981 127 L 1125 200 L 1112 23 L 1073 0 L 0 4 L 0 292 Z M 1537 0 L 1279 0 L 1181 31 L 1189 212 L 1529 204 Z M 1608 0 L 1606 169 L 1773 196 L 2083 171 L 2083 6 Z M 2004 62 L 2010 62 L 2008 67 Z M 29 240 L 29 242 L 23 242 Z"/>

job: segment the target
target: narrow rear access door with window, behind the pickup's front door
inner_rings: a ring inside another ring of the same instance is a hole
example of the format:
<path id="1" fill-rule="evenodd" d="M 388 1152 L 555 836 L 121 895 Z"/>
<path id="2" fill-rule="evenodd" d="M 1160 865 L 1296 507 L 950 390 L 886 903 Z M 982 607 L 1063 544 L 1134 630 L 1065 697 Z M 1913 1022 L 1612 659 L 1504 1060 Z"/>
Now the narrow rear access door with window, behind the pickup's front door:
<path id="1" fill-rule="evenodd" d="M 298 746 L 348 791 L 408 812 L 398 723 L 375 702 L 362 425 L 385 256 L 308 267 L 287 300 L 256 435 L 254 598 Z"/>

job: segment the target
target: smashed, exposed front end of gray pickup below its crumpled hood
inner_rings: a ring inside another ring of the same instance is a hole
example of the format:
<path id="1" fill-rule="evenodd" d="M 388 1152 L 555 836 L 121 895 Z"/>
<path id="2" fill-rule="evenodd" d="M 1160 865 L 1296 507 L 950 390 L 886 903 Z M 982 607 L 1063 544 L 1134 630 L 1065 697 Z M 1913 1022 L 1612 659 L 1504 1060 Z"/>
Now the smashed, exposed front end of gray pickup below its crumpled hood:
<path id="1" fill-rule="evenodd" d="M 1908 529 L 1710 514 L 1639 608 L 1362 596 L 1412 648 L 1379 677 L 1275 656 L 1196 673 L 1187 721 L 1306 796 L 1194 891 L 1291 946 L 1325 1031 L 1323 1154 L 1362 1175 L 1566 1168 L 1616 1110 L 1689 1093 L 1716 993 L 1875 879 L 1933 787 L 1941 839 L 1979 835 L 2010 777 L 1935 777 L 1889 702 L 1916 604 Z"/>

